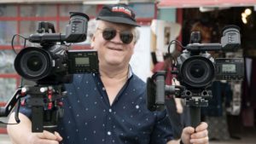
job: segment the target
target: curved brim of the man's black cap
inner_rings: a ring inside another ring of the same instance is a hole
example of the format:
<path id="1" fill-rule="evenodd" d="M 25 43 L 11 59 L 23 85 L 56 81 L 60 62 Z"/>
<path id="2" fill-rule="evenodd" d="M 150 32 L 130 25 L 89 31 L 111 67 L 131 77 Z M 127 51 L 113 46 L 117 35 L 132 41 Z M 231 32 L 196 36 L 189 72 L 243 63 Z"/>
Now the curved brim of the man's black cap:
<path id="1" fill-rule="evenodd" d="M 98 16 L 96 20 L 105 20 L 109 22 L 114 22 L 114 23 L 120 23 L 120 24 L 126 24 L 126 25 L 131 25 L 131 26 L 140 26 L 136 22 L 129 20 L 127 18 L 122 18 L 122 17 L 114 17 L 114 16 Z"/>

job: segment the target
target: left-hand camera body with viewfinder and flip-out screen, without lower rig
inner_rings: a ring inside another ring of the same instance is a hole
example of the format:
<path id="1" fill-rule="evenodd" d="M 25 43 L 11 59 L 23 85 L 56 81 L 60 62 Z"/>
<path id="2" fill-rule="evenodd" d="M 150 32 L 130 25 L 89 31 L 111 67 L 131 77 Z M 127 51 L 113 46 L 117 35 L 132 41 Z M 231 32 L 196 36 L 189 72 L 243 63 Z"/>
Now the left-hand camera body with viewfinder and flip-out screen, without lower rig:
<path id="1" fill-rule="evenodd" d="M 16 72 L 37 84 L 71 83 L 74 73 L 97 72 L 96 50 L 69 50 L 64 44 L 83 42 L 87 35 L 88 20 L 86 14 L 71 12 L 67 34 L 55 33 L 52 24 L 40 22 L 39 33 L 30 35 L 28 40 L 40 43 L 41 47 L 21 49 L 15 58 Z M 49 30 L 53 33 L 49 33 Z"/>

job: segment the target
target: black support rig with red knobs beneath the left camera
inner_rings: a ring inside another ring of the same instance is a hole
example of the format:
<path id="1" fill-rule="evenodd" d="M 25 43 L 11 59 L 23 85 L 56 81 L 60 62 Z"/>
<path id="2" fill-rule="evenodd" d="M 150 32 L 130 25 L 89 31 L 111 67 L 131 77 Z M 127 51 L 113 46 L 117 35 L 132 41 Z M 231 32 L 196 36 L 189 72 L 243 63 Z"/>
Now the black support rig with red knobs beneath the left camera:
<path id="1" fill-rule="evenodd" d="M 0 107 L 0 117 L 8 117 L 17 104 L 15 121 L 19 124 L 20 99 L 28 95 L 30 97 L 25 102 L 27 107 L 32 108 L 32 132 L 54 132 L 64 113 L 60 100 L 67 95 L 67 91 L 63 88 L 63 85 L 29 85 L 19 88 L 5 107 Z"/>

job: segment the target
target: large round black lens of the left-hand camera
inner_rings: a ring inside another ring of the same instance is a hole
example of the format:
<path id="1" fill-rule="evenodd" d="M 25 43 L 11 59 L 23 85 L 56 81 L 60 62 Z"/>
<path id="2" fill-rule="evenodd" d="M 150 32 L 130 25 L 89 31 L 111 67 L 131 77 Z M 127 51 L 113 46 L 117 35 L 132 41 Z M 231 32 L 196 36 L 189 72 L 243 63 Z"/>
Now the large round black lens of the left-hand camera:
<path id="1" fill-rule="evenodd" d="M 21 77 L 38 80 L 49 75 L 51 56 L 44 49 L 29 47 L 22 49 L 15 58 L 15 70 Z"/>

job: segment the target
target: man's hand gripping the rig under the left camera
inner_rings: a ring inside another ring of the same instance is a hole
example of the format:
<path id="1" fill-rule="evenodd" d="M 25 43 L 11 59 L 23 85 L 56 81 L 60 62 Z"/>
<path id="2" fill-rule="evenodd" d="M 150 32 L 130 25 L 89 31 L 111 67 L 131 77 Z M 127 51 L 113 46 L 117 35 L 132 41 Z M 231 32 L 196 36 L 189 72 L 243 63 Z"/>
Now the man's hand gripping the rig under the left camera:
<path id="1" fill-rule="evenodd" d="M 59 144 L 62 141 L 62 137 L 59 133 L 50 133 L 44 130 L 43 133 L 32 133 L 28 141 L 30 144 Z"/>

